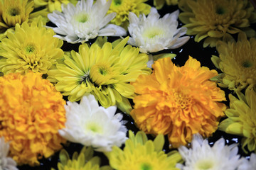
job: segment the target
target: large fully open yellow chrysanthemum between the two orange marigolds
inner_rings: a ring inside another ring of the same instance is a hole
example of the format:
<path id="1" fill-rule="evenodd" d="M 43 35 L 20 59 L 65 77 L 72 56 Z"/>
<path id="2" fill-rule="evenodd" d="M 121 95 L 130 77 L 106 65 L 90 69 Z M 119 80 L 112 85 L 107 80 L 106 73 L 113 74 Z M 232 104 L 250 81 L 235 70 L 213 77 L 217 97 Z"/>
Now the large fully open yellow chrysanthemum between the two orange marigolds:
<path id="1" fill-rule="evenodd" d="M 117 105 L 123 112 L 131 108 L 127 98 L 133 98 L 134 87 L 129 84 L 139 74 L 149 74 L 146 68 L 148 56 L 139 54 L 139 48 L 126 45 L 129 37 L 112 47 L 105 42 L 89 48 L 87 44 L 79 47 L 79 53 L 72 51 L 65 56 L 63 64 L 48 72 L 48 79 L 57 82 L 55 87 L 68 96 L 69 101 L 79 101 L 87 93 L 93 94 L 105 108 Z"/>

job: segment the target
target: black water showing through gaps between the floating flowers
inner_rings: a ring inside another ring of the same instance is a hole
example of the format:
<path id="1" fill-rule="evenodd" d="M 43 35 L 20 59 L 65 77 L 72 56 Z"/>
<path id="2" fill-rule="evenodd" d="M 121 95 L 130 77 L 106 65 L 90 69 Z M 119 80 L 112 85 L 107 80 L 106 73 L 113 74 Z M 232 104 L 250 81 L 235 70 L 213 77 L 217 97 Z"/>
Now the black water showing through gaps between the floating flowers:
<path id="1" fill-rule="evenodd" d="M 146 2 L 146 4 L 149 4 L 151 6 L 153 6 L 153 0 L 149 0 Z M 178 6 L 164 6 L 163 8 L 161 8 L 161 10 L 159 10 L 159 14 L 162 16 L 164 16 L 165 13 L 171 13 L 174 12 L 178 9 Z M 181 10 L 179 10 L 180 13 L 182 12 Z M 47 26 L 54 26 L 53 23 L 47 23 Z M 178 27 L 183 26 L 183 23 L 181 23 L 181 21 L 178 21 Z M 255 29 L 256 28 L 256 23 L 251 25 L 251 28 Z M 237 35 L 234 35 L 235 38 L 237 38 Z M 93 40 L 90 40 L 89 43 L 93 43 L 95 42 L 96 38 Z M 108 41 L 112 42 L 113 40 L 117 40 L 117 38 L 108 38 Z M 63 47 L 62 49 L 64 51 L 69 51 L 69 50 L 75 50 L 76 52 L 78 52 L 78 47 L 79 47 L 80 43 L 78 44 L 70 44 L 68 42 L 64 41 Z M 217 55 L 218 56 L 218 52 L 215 49 L 215 47 L 206 47 L 203 48 L 203 41 L 201 42 L 195 42 L 194 41 L 194 36 L 191 36 L 190 40 L 188 40 L 188 42 L 186 42 L 185 45 L 179 47 L 178 49 L 175 50 L 164 50 L 161 52 L 157 52 L 156 54 L 160 54 L 160 53 L 174 53 L 176 54 L 176 57 L 172 60 L 172 62 L 174 62 L 174 64 L 178 65 L 178 66 L 183 66 L 186 62 L 186 60 L 188 60 L 188 56 L 190 55 L 193 58 L 196 58 L 196 60 L 201 62 L 201 66 L 206 66 L 209 69 L 216 69 L 215 66 L 213 65 L 213 63 L 210 60 L 210 57 L 212 55 Z M 220 70 L 216 69 L 218 72 L 220 72 Z M 228 107 L 229 107 L 229 101 L 228 101 L 228 94 L 233 94 L 233 91 L 229 91 L 228 89 L 223 89 L 225 91 L 225 96 L 227 98 L 227 101 L 223 101 L 223 103 L 225 103 Z M 63 97 L 65 99 L 65 101 L 68 101 L 67 97 L 64 96 Z M 131 101 L 132 102 L 132 101 Z M 133 103 L 132 103 L 133 105 Z M 121 111 L 117 110 L 117 113 L 121 113 Z M 134 121 L 132 120 L 132 117 L 130 115 L 126 115 L 123 113 L 124 116 L 124 120 L 127 120 L 127 129 L 128 130 L 132 130 L 134 133 L 137 132 L 139 129 L 136 127 L 136 125 L 134 125 Z M 225 118 L 222 118 L 221 120 L 223 120 Z M 221 121 L 220 120 L 220 121 Z M 148 135 L 149 139 L 154 140 L 154 137 L 152 137 L 151 135 Z M 241 149 L 241 139 L 242 137 L 237 136 L 237 135 L 230 135 L 227 134 L 225 132 L 222 132 L 220 130 L 217 130 L 216 132 L 213 133 L 212 137 L 208 138 L 209 144 L 212 146 L 214 144 L 215 141 L 217 141 L 218 139 L 220 139 L 220 137 L 224 137 L 225 139 L 225 143 L 226 145 L 231 145 L 233 143 L 237 143 L 238 147 L 239 147 L 239 154 L 243 157 L 246 157 L 247 159 L 250 158 L 250 152 L 248 152 L 247 154 L 245 152 L 242 151 Z M 122 146 L 124 147 L 124 145 Z M 82 145 L 80 144 L 75 144 L 72 142 L 68 142 L 66 145 L 63 145 L 63 148 L 66 149 L 68 151 L 68 153 L 70 154 L 70 157 L 72 157 L 74 152 L 80 152 L 80 150 L 82 149 Z M 168 153 L 171 149 L 169 149 L 169 142 L 168 139 L 166 137 L 166 143 L 164 145 L 164 151 L 166 153 Z M 108 160 L 107 157 L 105 157 L 104 154 L 100 153 L 100 152 L 95 152 L 95 156 L 101 157 L 101 162 L 102 165 L 108 164 Z M 59 162 L 59 152 L 56 152 L 52 157 L 49 157 L 47 159 L 43 158 L 40 159 L 40 165 L 39 166 L 28 166 L 28 165 L 23 165 L 23 166 L 18 166 L 18 169 L 21 170 L 28 170 L 28 169 L 43 169 L 43 170 L 48 170 L 51 168 L 57 168 L 57 164 Z"/>

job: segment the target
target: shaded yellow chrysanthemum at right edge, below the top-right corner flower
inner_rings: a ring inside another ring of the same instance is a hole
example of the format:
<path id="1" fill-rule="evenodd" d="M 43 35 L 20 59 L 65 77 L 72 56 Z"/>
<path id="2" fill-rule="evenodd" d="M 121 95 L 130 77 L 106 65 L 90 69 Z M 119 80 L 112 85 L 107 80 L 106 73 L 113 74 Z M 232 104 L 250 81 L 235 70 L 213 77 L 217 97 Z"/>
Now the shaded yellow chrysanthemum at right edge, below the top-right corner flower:
<path id="1" fill-rule="evenodd" d="M 220 57 L 213 56 L 215 67 L 223 74 L 218 77 L 221 87 L 242 90 L 256 85 L 256 39 L 247 40 L 245 33 L 238 34 L 238 42 L 231 36 L 217 43 Z"/>

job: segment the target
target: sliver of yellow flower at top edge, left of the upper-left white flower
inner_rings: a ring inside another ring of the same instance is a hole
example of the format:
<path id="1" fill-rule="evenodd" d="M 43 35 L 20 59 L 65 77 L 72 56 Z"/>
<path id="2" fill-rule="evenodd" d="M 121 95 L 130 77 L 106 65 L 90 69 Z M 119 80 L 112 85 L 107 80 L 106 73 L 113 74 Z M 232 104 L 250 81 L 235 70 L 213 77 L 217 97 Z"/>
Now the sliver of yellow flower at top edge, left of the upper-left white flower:
<path id="1" fill-rule="evenodd" d="M 46 7 L 46 11 L 51 13 L 55 10 L 61 12 L 61 4 L 72 3 L 75 5 L 78 2 L 78 0 L 34 0 L 34 2 L 36 8 L 44 6 Z"/>

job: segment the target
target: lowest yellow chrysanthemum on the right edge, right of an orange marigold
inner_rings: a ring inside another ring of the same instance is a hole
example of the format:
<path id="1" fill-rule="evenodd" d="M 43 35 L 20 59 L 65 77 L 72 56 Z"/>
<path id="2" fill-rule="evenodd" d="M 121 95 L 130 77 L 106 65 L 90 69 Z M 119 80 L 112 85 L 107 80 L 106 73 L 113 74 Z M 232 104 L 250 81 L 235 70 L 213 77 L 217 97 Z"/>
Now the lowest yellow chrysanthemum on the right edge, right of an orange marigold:
<path id="1" fill-rule="evenodd" d="M 256 91 L 248 88 L 245 96 L 240 91 L 237 94 L 239 99 L 229 95 L 230 108 L 225 111 L 228 118 L 220 123 L 219 128 L 243 136 L 242 149 L 247 152 L 247 146 L 250 152 L 256 152 Z"/>

